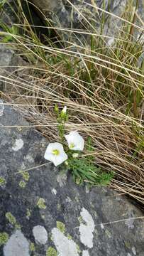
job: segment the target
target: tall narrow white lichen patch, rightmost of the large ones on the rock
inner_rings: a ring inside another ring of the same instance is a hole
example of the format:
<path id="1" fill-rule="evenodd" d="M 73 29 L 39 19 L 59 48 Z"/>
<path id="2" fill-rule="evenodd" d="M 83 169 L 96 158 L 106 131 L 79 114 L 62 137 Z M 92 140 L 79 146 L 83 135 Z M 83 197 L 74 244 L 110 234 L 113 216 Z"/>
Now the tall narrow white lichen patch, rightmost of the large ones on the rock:
<path id="1" fill-rule="evenodd" d="M 94 238 L 94 220 L 92 218 L 92 215 L 86 210 L 85 208 L 82 208 L 82 212 L 80 213 L 82 220 L 86 224 L 81 223 L 79 226 L 79 233 L 80 233 L 80 240 L 81 242 L 89 247 L 93 247 L 93 238 Z"/>

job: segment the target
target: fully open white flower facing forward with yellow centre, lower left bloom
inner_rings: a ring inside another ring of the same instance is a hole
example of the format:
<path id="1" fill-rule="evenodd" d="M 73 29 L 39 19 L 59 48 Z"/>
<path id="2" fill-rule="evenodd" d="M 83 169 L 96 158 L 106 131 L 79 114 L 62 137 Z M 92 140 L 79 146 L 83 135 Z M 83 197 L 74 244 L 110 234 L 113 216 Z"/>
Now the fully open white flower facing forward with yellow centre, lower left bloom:
<path id="1" fill-rule="evenodd" d="M 48 144 L 44 158 L 52 161 L 55 166 L 58 166 L 67 160 L 67 154 L 65 153 L 62 144 L 55 142 Z"/>

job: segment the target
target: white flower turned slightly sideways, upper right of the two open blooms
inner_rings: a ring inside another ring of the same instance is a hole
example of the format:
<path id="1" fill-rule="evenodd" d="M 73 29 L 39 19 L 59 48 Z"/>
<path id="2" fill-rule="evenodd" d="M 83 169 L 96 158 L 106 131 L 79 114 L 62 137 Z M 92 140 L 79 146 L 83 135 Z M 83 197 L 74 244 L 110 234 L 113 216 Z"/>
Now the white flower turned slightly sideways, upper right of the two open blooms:
<path id="1" fill-rule="evenodd" d="M 84 149 L 84 139 L 79 132 L 70 132 L 70 134 L 65 135 L 69 149 L 82 151 Z"/>

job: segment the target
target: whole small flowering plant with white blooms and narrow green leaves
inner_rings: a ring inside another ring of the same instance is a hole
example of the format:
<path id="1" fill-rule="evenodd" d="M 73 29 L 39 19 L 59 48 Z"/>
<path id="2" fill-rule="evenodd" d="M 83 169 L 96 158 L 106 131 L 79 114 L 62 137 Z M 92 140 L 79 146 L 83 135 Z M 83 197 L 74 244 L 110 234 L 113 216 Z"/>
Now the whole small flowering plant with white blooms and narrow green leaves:
<path id="1" fill-rule="evenodd" d="M 83 184 L 85 181 L 90 185 L 108 185 L 111 178 L 113 178 L 113 173 L 106 173 L 96 166 L 92 161 L 92 154 L 88 154 L 88 156 L 80 154 L 84 150 L 83 137 L 77 131 L 72 131 L 70 134 L 65 135 L 65 122 L 68 119 L 67 107 L 64 107 L 59 112 L 59 108 L 56 105 L 55 113 L 57 114 L 57 129 L 64 146 L 59 142 L 48 144 L 45 151 L 45 159 L 52 161 L 55 166 L 65 162 L 64 169 L 72 171 L 72 177 L 77 184 Z M 65 144 L 65 139 L 68 145 Z M 90 137 L 87 140 L 87 151 L 89 153 L 94 151 Z"/>

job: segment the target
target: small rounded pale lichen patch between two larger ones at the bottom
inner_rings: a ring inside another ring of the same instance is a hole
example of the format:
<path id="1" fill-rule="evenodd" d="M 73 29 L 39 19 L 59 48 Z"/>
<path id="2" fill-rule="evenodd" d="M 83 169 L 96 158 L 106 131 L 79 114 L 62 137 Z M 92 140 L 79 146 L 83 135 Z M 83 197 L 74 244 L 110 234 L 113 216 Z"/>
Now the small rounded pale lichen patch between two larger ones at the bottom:
<path id="1" fill-rule="evenodd" d="M 36 243 L 40 243 L 41 245 L 45 245 L 48 241 L 48 233 L 47 230 L 41 225 L 37 225 L 33 228 L 33 236 L 35 238 Z"/>

